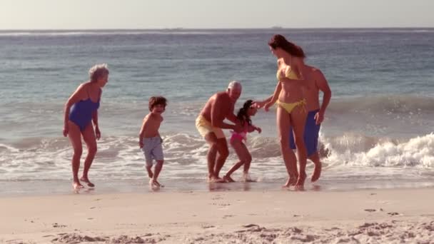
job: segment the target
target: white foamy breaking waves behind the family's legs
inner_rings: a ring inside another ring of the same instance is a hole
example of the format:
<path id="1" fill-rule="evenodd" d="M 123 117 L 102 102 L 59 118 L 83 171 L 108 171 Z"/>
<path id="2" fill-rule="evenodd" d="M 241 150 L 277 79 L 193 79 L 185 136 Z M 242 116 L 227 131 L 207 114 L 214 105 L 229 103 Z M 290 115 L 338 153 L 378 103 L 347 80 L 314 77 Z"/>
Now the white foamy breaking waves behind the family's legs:
<path id="1" fill-rule="evenodd" d="M 206 177 L 208 146 L 203 138 L 188 133 L 163 134 L 167 178 Z M 0 155 L 0 171 L 6 180 L 59 180 L 71 178 L 72 150 L 67 138 L 34 138 L 5 148 Z M 278 140 L 251 136 L 248 148 L 253 156 L 251 172 L 261 178 L 285 178 Z M 226 171 L 238 160 L 230 148 Z M 321 157 L 325 176 L 377 176 L 404 174 L 408 168 L 434 170 L 434 134 L 418 136 L 406 141 L 388 138 L 369 138 L 345 134 L 335 138 L 321 137 Z M 82 161 L 86 156 L 86 148 Z M 308 168 L 312 165 L 308 164 Z M 358 168 L 353 171 L 353 168 Z M 382 168 L 378 171 L 378 168 Z M 223 172 L 222 171 L 222 172 Z M 95 178 L 131 179 L 145 177 L 143 153 L 132 136 L 112 136 L 99 141 L 99 151 L 91 171 Z M 429 174 L 428 174 L 429 175 Z M 423 175 L 421 177 L 425 177 Z"/>

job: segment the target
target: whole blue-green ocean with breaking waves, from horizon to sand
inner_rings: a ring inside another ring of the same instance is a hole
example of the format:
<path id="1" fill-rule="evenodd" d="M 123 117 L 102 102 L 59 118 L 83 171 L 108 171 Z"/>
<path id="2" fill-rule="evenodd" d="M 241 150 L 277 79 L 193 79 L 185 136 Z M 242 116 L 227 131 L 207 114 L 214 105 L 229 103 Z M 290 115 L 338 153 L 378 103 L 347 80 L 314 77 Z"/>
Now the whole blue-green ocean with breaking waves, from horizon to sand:
<path id="1" fill-rule="evenodd" d="M 208 146 L 194 126 L 229 81 L 243 84 L 236 109 L 273 93 L 273 34 L 302 46 L 333 92 L 321 128 L 323 173 L 306 190 L 434 186 L 434 29 L 0 31 L 0 195 L 71 193 L 64 103 L 96 63 L 108 63 L 110 76 L 89 192 L 149 191 L 138 131 L 157 95 L 168 99 L 162 190 L 280 190 L 275 109 L 258 111 L 252 121 L 263 132 L 248 135 L 258 183 L 206 183 Z M 230 148 L 222 173 L 236 160 Z"/>

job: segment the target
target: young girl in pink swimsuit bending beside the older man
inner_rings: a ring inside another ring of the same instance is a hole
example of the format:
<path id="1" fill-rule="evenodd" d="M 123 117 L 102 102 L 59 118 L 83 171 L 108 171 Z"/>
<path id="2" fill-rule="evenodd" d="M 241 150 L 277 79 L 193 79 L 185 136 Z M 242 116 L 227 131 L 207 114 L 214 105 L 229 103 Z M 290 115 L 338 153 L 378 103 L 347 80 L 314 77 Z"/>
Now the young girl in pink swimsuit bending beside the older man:
<path id="1" fill-rule="evenodd" d="M 231 146 L 236 151 L 236 154 L 238 155 L 240 161 L 234 166 L 232 166 L 228 173 L 226 173 L 226 176 L 223 176 L 223 180 L 226 182 L 235 182 L 233 181 L 233 178 L 231 178 L 231 174 L 242 165 L 244 165 L 243 181 L 251 182 L 251 179 L 248 177 L 248 168 L 250 167 L 252 156 L 248 152 L 246 144 L 244 144 L 243 141 L 246 141 L 247 133 L 249 132 L 258 131 L 258 133 L 261 133 L 261 128 L 253 126 L 250 119 L 251 116 L 255 116 L 256 111 L 257 109 L 255 106 L 253 106 L 252 100 L 246 101 L 246 103 L 244 103 L 243 105 L 243 108 L 240 108 L 240 110 L 238 111 L 236 117 L 238 118 L 238 121 L 240 121 L 241 126 L 244 126 L 244 130 L 241 133 L 231 131 Z"/>

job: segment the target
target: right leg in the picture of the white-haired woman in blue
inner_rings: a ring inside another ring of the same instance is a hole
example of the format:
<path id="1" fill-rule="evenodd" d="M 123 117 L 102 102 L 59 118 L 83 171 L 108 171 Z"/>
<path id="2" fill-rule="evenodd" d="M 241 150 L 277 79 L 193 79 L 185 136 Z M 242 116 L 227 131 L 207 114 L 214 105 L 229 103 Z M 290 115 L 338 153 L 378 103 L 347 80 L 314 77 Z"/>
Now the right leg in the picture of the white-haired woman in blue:
<path id="1" fill-rule="evenodd" d="M 80 180 L 83 182 L 86 182 L 87 185 L 90 187 L 94 187 L 94 183 L 91 183 L 88 178 L 88 172 L 89 168 L 91 168 L 92 162 L 94 161 L 95 154 L 96 154 L 96 138 L 95 138 L 95 131 L 94 126 L 92 123 L 89 123 L 88 126 L 82 131 L 83 133 L 83 139 L 87 146 L 87 156 L 84 160 L 84 169 L 83 169 L 83 175 L 81 176 Z"/>

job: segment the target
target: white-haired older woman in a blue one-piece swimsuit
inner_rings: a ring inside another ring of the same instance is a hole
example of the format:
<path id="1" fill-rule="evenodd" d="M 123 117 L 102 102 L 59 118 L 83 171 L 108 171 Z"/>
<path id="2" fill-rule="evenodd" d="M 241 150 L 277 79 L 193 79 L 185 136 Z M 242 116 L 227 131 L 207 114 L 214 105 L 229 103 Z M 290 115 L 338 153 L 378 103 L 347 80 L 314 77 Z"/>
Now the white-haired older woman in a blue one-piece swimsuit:
<path id="1" fill-rule="evenodd" d="M 69 136 L 69 141 L 74 148 L 72 156 L 72 176 L 74 190 L 83 188 L 80 181 L 89 187 L 95 185 L 89 181 L 88 172 L 96 154 L 96 140 L 101 138 L 98 126 L 98 108 L 101 101 L 102 87 L 109 81 L 109 69 L 107 65 L 97 64 L 89 70 L 90 80 L 82 83 L 65 104 L 64 136 Z M 94 122 L 92 125 L 92 121 Z M 95 126 L 95 130 L 94 130 Z M 88 148 L 88 154 L 84 160 L 84 169 L 79 179 L 80 158 L 83 152 L 81 136 Z"/>

